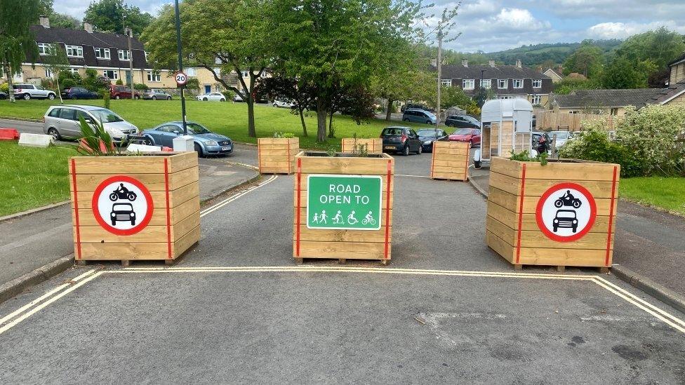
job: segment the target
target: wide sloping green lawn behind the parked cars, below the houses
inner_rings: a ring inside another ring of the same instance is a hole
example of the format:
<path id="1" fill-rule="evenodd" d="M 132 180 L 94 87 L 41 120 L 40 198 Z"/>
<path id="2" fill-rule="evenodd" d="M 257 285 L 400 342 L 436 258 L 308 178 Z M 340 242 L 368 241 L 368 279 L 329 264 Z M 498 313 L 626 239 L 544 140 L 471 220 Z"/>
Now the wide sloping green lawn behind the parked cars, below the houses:
<path id="1" fill-rule="evenodd" d="M 69 101 L 71 102 L 71 101 Z M 77 100 L 79 104 L 102 105 L 102 100 Z M 19 118 L 41 119 L 48 107 L 58 104 L 59 101 L 49 100 L 20 100 L 11 104 L 8 100 L 0 100 L 0 116 L 12 116 Z M 114 112 L 121 115 L 127 121 L 135 124 L 140 129 L 152 128 L 165 121 L 181 119 L 180 100 L 112 100 L 110 107 Z M 186 101 L 187 119 L 198 121 L 210 130 L 231 137 L 237 142 L 256 143 L 253 137 L 247 136 L 247 105 L 245 103 L 230 102 L 199 102 L 197 100 Z M 275 109 L 270 106 L 255 106 L 255 126 L 258 137 L 271 137 L 275 131 L 293 133 L 300 137 L 300 147 L 305 149 L 328 149 L 340 147 L 340 138 L 352 137 L 378 137 L 380 130 L 390 126 L 388 122 L 371 119 L 368 123 L 357 125 L 354 120 L 347 116 L 336 115 L 333 117 L 333 129 L 335 139 L 330 139 L 326 144 L 316 142 L 317 114 L 310 113 L 305 118 L 308 137 L 302 137 L 300 117 L 291 114 L 287 109 Z M 398 122 L 393 122 L 397 124 Z M 411 124 L 415 128 L 420 125 Z"/>

